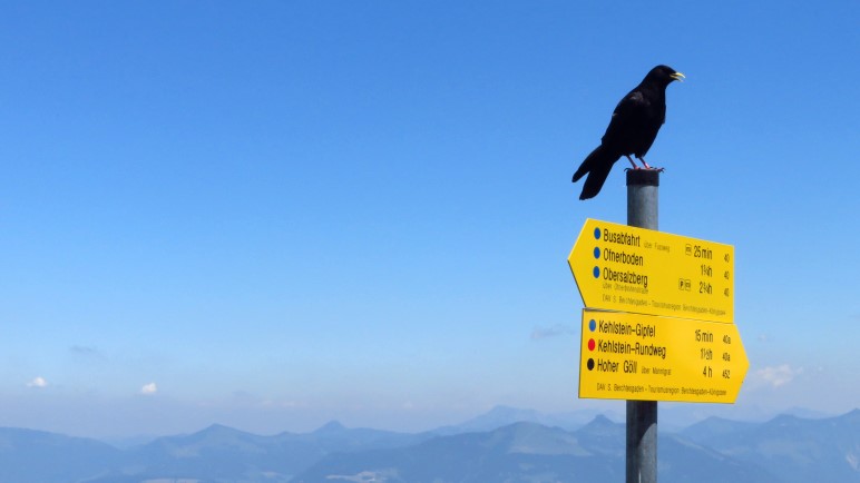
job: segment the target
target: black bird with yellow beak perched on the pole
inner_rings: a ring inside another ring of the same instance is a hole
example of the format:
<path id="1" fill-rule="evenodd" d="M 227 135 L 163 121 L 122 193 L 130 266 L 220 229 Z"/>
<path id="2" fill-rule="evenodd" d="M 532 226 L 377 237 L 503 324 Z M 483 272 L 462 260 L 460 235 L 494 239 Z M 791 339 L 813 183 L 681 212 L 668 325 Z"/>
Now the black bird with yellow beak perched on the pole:
<path id="1" fill-rule="evenodd" d="M 594 198 L 609 176 L 615 161 L 622 156 L 639 169 L 631 159 L 635 156 L 646 169 L 654 169 L 645 162 L 645 154 L 654 144 L 657 131 L 666 120 L 666 87 L 673 80 L 683 80 L 684 75 L 667 66 L 657 66 L 642 79 L 613 111 L 613 118 L 606 134 L 600 138 L 600 146 L 585 158 L 574 174 L 574 183 L 588 174 L 583 185 L 579 199 Z"/>

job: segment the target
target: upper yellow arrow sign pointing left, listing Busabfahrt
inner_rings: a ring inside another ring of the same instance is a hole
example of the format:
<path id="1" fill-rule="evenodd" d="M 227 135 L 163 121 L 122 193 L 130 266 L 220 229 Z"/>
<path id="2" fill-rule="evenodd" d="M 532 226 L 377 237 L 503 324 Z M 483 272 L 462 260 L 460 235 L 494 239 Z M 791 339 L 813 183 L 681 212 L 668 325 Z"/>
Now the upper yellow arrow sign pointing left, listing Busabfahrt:
<path id="1" fill-rule="evenodd" d="M 586 219 L 567 258 L 589 308 L 734 321 L 734 247 Z"/>

